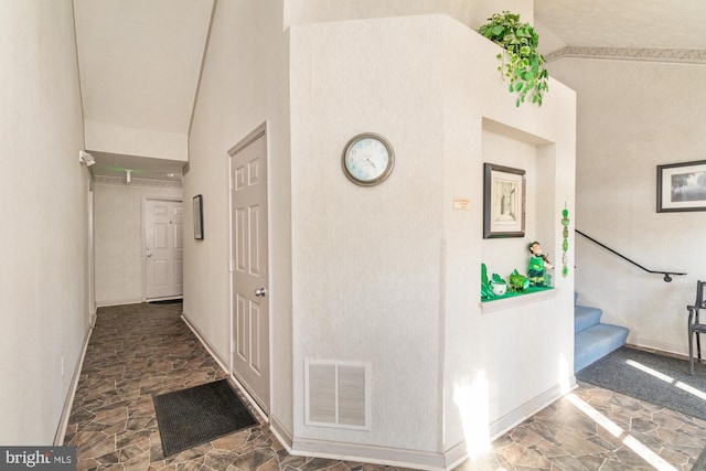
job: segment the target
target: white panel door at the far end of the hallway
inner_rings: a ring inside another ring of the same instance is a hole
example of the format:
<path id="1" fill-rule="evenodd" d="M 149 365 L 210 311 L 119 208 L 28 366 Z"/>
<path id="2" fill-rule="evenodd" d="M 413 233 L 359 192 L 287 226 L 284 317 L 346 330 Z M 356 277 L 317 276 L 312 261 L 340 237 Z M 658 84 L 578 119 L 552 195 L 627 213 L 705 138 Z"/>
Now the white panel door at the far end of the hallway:
<path id="1" fill-rule="evenodd" d="M 183 295 L 182 226 L 181 201 L 147 200 L 145 292 L 148 300 Z"/>

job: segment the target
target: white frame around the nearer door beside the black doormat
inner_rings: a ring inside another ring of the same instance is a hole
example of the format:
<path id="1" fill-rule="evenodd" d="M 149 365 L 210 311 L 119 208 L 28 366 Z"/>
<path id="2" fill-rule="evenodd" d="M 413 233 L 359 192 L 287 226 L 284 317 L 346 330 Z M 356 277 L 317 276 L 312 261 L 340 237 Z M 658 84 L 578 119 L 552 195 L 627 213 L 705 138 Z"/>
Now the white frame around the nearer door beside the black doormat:
<path id="1" fill-rule="evenodd" d="M 267 315 L 268 315 L 268 332 L 267 332 L 267 349 L 268 349 L 268 358 L 267 361 L 269 362 L 269 367 L 268 367 L 268 378 L 267 381 L 269 382 L 269 387 L 268 387 L 268 396 L 267 398 L 260 398 L 260 400 L 265 402 L 267 405 L 267 411 L 264 410 L 259 404 L 253 398 L 253 396 L 250 395 L 250 393 L 245 388 L 245 386 L 243 384 L 240 384 L 240 381 L 237 378 L 237 376 L 235 376 L 234 371 L 235 371 L 235 365 L 233 364 L 233 354 L 235 353 L 235 339 L 233 336 L 233 331 L 234 331 L 234 327 L 235 327 L 235 304 L 233 302 L 233 279 L 235 278 L 235 267 L 233 266 L 233 260 L 235 257 L 235 253 L 234 253 L 234 247 L 233 247 L 233 191 L 234 191 L 234 182 L 233 179 L 231 178 L 233 174 L 233 168 L 231 164 L 231 161 L 233 159 L 233 157 L 235 154 L 237 154 L 240 150 L 245 149 L 246 147 L 248 147 L 250 143 L 255 142 L 257 139 L 259 139 L 260 137 L 265 137 L 265 164 L 267 165 L 267 227 L 268 227 L 268 235 L 267 235 L 267 253 L 268 253 L 268 257 L 267 257 L 267 278 L 268 278 L 268 282 L 267 285 L 271 287 L 271 257 L 269 257 L 269 254 L 271 253 L 270 248 L 270 240 L 271 237 L 269 236 L 269 227 L 270 227 L 270 178 L 269 178 L 269 133 L 268 133 L 268 121 L 263 122 L 261 125 L 259 125 L 258 127 L 256 127 L 253 131 L 250 131 L 247 136 L 245 136 L 245 138 L 243 138 L 239 142 L 237 142 L 235 146 L 233 146 L 226 153 L 226 159 L 227 159 L 227 168 L 228 168 L 228 172 L 227 172 L 227 189 L 228 189 L 228 310 L 229 310 L 229 315 L 228 315 L 228 374 L 231 375 L 231 377 L 233 378 L 233 381 L 235 381 L 235 383 L 238 385 L 239 389 L 246 395 L 247 399 L 249 400 L 249 403 L 257 409 L 257 411 L 260 414 L 260 416 L 269 421 L 269 414 L 271 413 L 271 389 L 272 389 L 272 303 L 271 303 L 271 296 L 270 293 L 268 293 L 268 296 L 265 297 L 265 299 L 267 300 Z M 270 290 L 271 291 L 271 290 Z"/>

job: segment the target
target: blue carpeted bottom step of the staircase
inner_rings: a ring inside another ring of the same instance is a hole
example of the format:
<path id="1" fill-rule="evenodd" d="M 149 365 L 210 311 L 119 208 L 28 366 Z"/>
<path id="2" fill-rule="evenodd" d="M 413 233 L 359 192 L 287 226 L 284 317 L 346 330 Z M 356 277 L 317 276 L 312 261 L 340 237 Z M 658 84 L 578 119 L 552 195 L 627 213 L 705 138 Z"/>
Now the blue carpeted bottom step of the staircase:
<path id="1" fill-rule="evenodd" d="M 600 323 L 576 333 L 574 371 L 581 371 L 624 345 L 629 333 L 630 331 L 623 327 Z"/>

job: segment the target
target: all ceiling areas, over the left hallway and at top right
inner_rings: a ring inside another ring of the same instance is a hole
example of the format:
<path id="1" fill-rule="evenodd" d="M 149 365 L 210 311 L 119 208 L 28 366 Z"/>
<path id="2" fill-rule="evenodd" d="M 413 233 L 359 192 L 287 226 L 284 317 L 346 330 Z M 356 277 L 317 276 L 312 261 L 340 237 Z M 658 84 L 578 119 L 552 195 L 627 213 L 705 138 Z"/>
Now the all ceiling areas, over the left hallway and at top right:
<path id="1" fill-rule="evenodd" d="M 188 136 L 214 3 L 74 0 L 84 119 Z M 705 0 L 534 4 L 545 55 L 565 46 L 706 49 Z M 133 178 L 181 180 L 183 161 L 88 150 L 94 175 L 132 169 Z"/>

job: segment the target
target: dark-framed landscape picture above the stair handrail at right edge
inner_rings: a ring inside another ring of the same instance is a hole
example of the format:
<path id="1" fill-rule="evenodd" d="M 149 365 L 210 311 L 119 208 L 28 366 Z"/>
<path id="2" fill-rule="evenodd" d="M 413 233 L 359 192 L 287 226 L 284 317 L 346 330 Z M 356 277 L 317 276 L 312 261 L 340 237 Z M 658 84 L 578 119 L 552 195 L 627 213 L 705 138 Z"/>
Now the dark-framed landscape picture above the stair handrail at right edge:
<path id="1" fill-rule="evenodd" d="M 706 211 L 706 160 L 657 165 L 657 213 Z"/>

